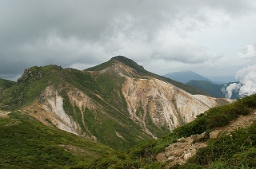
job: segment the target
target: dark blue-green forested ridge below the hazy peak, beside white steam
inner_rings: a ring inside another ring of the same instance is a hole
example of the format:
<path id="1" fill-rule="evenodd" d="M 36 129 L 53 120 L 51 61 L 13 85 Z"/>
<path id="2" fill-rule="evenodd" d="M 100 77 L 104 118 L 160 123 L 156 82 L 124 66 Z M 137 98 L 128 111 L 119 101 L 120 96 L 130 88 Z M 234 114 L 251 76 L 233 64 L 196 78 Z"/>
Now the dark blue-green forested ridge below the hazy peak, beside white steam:
<path id="1" fill-rule="evenodd" d="M 226 83 L 223 85 L 217 85 L 214 83 L 211 83 L 210 81 L 189 81 L 186 83 L 186 85 L 194 86 L 195 88 L 200 88 L 201 90 L 208 92 L 211 96 L 214 97 L 226 97 L 225 88 L 226 86 L 230 85 L 230 83 Z M 233 92 L 231 99 L 237 99 L 238 98 L 238 92 Z"/>

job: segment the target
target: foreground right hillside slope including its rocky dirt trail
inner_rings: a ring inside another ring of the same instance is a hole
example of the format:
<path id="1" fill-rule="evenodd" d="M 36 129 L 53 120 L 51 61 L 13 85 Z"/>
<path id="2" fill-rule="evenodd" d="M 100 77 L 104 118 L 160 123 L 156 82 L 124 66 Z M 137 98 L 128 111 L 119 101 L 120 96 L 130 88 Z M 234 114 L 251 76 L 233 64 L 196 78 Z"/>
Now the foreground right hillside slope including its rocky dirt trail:
<path id="1" fill-rule="evenodd" d="M 254 168 L 255 110 L 255 94 L 238 99 L 233 104 L 210 108 L 190 124 L 174 129 L 161 139 L 107 155 L 86 167 Z"/>

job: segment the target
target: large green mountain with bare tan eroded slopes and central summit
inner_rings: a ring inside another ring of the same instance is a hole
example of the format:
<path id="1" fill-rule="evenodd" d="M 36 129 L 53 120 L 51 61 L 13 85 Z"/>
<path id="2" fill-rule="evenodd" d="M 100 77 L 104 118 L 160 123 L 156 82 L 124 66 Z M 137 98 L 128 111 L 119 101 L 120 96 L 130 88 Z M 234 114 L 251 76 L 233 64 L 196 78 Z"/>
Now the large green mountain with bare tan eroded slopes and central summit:
<path id="1" fill-rule="evenodd" d="M 118 56 L 82 71 L 57 65 L 25 69 L 2 92 L 0 108 L 122 150 L 231 101 L 204 93 Z"/>

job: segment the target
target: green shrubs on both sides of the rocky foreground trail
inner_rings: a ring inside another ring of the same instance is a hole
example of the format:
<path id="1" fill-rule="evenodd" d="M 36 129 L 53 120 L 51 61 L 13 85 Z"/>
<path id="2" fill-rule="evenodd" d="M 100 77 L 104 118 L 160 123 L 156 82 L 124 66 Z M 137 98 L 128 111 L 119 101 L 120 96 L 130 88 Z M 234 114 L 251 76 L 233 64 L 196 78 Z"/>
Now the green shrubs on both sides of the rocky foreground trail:
<path id="1" fill-rule="evenodd" d="M 150 140 L 119 152 L 118 155 L 107 155 L 97 159 L 88 168 L 162 168 L 166 163 L 155 162 L 155 156 L 165 150 L 170 143 L 178 138 L 210 132 L 214 128 L 224 126 L 240 115 L 247 115 L 256 108 L 256 94 L 238 99 L 233 104 L 210 108 L 198 116 L 190 124 L 174 129 L 167 136 L 158 140 Z M 222 136 L 208 141 L 208 147 L 198 151 L 189 163 L 172 168 L 251 168 L 256 158 L 256 122 L 248 129 L 240 129 L 231 136 Z"/>

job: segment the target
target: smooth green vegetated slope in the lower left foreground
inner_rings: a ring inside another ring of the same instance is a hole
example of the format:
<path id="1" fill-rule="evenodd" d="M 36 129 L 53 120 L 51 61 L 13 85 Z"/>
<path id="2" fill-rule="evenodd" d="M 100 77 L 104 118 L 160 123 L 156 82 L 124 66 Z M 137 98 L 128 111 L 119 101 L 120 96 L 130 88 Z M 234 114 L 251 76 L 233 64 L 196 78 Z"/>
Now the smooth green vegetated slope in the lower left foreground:
<path id="1" fill-rule="evenodd" d="M 84 166 L 113 150 L 80 136 L 47 127 L 21 112 L 0 118 L 0 168 Z"/>

